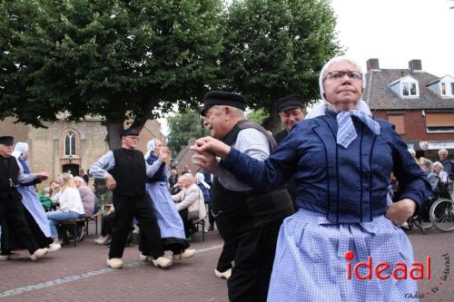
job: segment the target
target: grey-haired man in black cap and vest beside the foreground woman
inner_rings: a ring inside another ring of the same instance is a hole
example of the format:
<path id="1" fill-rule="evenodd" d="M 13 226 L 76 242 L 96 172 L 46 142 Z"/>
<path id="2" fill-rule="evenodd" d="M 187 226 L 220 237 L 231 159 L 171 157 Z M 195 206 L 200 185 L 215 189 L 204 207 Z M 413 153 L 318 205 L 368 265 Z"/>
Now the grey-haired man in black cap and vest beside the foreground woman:
<path id="1" fill-rule="evenodd" d="M 276 141 L 260 125 L 244 117 L 246 101 L 236 93 L 205 94 L 201 114 L 212 137 L 258 160 L 265 160 Z M 234 267 L 227 281 L 230 301 L 265 301 L 270 284 L 276 240 L 282 219 L 293 212 L 286 190 L 256 193 L 232 174 L 211 162 L 204 165 L 214 174 L 212 212 L 226 246 L 234 244 Z M 226 277 L 227 278 L 227 277 Z"/>

